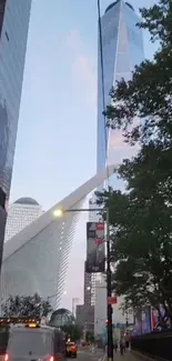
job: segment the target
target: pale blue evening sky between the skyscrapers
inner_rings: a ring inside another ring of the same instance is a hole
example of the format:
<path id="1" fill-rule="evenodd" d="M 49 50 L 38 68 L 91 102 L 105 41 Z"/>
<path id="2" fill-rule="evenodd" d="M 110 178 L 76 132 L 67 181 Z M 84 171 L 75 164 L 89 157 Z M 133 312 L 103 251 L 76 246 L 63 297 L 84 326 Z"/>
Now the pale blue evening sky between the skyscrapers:
<path id="1" fill-rule="evenodd" d="M 142 6 L 130 2 L 136 11 Z M 154 2 L 144 0 L 144 7 Z M 102 0 L 101 11 L 109 4 Z M 32 0 L 11 202 L 32 197 L 47 210 L 95 173 L 97 21 L 97 0 Z M 144 43 L 151 58 L 146 32 Z M 82 217 L 71 255 L 73 262 L 78 248 L 73 272 L 82 271 L 74 289 L 68 280 L 68 307 L 72 297 L 82 298 L 84 222 Z"/>

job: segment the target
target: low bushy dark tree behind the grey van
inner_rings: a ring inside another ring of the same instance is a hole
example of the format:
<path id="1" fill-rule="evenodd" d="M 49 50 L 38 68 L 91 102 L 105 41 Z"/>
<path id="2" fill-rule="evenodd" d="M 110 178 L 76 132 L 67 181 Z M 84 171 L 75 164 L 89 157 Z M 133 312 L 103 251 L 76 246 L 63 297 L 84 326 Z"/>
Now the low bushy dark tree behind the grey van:
<path id="1" fill-rule="evenodd" d="M 3 317 L 47 317 L 52 311 L 49 301 L 43 300 L 38 293 L 33 295 L 10 295 L 1 305 Z"/>

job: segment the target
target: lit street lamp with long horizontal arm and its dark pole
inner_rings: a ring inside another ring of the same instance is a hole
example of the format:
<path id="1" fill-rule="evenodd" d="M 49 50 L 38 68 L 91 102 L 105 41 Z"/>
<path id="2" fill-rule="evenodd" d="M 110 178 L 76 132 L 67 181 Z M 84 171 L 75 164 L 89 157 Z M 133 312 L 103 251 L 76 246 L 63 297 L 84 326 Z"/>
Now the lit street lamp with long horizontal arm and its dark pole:
<path id="1" fill-rule="evenodd" d="M 111 272 L 111 248 L 110 248 L 110 219 L 109 219 L 109 208 L 94 208 L 91 209 L 92 212 L 102 212 L 105 211 L 107 214 L 107 319 L 108 319 L 108 360 L 113 360 L 113 327 L 112 327 L 112 304 L 110 303 L 110 299 L 112 295 L 111 281 L 112 281 L 112 272 Z M 53 212 L 53 215 L 57 218 L 62 217 L 65 213 L 71 212 L 90 212 L 90 209 L 57 209 Z"/>

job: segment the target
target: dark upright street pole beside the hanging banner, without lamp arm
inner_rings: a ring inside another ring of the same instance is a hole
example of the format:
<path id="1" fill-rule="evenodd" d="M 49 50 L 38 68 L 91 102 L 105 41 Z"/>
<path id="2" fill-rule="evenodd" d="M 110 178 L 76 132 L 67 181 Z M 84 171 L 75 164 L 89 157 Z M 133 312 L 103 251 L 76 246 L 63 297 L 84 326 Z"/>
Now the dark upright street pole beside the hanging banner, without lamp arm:
<path id="1" fill-rule="evenodd" d="M 107 319 L 108 319 L 108 361 L 113 361 L 113 324 L 112 304 L 109 300 L 112 297 L 112 272 L 111 272 L 111 248 L 110 248 L 110 219 L 107 208 Z"/>

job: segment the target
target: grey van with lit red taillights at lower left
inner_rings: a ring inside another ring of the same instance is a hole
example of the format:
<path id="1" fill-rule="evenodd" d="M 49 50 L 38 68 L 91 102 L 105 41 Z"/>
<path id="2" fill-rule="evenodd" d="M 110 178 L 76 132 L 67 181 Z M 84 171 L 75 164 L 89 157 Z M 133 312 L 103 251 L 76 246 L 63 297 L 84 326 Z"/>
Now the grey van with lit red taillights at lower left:
<path id="1" fill-rule="evenodd" d="M 1 361 L 64 361 L 65 339 L 63 332 L 57 328 L 41 325 L 34 320 L 10 324 L 8 341 L 1 353 Z"/>

